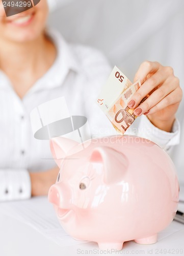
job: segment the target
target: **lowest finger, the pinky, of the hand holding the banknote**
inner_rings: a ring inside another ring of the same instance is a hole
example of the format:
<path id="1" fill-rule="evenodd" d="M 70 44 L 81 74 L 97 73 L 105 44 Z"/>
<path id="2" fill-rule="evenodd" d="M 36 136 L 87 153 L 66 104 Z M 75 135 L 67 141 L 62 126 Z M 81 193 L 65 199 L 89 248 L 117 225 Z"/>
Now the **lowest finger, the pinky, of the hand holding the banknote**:
<path id="1" fill-rule="evenodd" d="M 159 103 L 153 106 L 153 108 L 151 108 L 147 114 L 153 114 L 157 111 L 163 110 L 164 108 L 172 104 L 179 104 L 182 98 L 182 94 L 180 93 L 180 91 L 181 89 L 178 87 L 176 90 L 174 90 L 164 99 L 162 99 Z"/>

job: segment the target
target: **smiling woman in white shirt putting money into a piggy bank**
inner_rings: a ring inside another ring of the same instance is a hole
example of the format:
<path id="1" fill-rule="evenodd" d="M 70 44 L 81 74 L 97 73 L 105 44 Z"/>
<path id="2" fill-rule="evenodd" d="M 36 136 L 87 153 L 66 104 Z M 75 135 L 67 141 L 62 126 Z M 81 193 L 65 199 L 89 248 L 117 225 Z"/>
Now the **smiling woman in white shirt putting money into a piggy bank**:
<path id="1" fill-rule="evenodd" d="M 57 32 L 45 30 L 47 15 L 46 0 L 10 17 L 0 2 L 1 201 L 46 195 L 55 183 L 58 168 L 54 161 L 44 160 L 51 158 L 48 141 L 35 140 L 31 131 L 29 115 L 37 105 L 65 96 L 72 115 L 88 117 L 94 136 L 114 132 L 93 104 L 110 74 L 106 59 L 96 50 L 68 45 Z M 151 127 L 150 139 L 167 150 L 178 139 L 175 113 L 182 97 L 178 78 L 171 68 L 149 61 L 142 63 L 135 80 L 138 77 L 143 86 L 129 106 L 134 108 L 152 92 L 135 114 L 147 115 L 151 122 L 142 118 L 141 125 Z"/>

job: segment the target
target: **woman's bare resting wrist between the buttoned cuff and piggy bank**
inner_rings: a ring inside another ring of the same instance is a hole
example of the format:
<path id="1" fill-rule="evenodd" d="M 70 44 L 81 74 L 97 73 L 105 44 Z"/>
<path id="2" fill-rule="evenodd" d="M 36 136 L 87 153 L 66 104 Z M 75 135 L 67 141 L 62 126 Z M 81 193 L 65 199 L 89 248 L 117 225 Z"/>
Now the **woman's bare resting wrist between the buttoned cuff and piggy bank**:
<path id="1" fill-rule="evenodd" d="M 32 196 L 47 196 L 51 185 L 56 183 L 58 173 L 58 167 L 46 172 L 30 173 Z"/>

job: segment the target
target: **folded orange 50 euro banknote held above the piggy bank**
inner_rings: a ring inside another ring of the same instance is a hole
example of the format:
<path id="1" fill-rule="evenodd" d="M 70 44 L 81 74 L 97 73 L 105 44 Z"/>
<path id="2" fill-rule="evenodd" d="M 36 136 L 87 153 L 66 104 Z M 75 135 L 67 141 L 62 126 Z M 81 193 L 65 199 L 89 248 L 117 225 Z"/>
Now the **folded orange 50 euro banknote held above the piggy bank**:
<path id="1" fill-rule="evenodd" d="M 97 104 L 106 114 L 115 130 L 123 135 L 128 127 L 135 121 L 134 109 L 127 106 L 129 99 L 141 87 L 140 80 L 135 83 L 130 80 L 115 66 L 101 93 Z M 140 104 L 147 98 L 142 99 Z"/>

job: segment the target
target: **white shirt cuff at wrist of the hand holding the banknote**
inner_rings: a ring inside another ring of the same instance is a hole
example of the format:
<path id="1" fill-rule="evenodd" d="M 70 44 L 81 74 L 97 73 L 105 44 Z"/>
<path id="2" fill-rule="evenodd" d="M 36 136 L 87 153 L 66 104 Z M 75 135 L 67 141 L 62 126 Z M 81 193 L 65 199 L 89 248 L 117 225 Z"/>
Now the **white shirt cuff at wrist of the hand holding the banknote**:
<path id="1" fill-rule="evenodd" d="M 175 119 L 172 132 L 168 133 L 155 127 L 149 119 L 143 115 L 138 129 L 138 136 L 149 139 L 164 150 L 169 151 L 171 146 L 179 144 L 180 124 L 179 121 Z"/>

